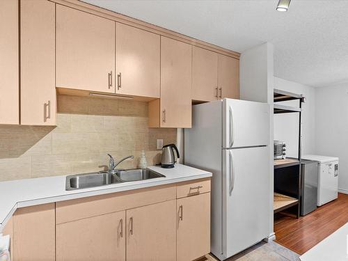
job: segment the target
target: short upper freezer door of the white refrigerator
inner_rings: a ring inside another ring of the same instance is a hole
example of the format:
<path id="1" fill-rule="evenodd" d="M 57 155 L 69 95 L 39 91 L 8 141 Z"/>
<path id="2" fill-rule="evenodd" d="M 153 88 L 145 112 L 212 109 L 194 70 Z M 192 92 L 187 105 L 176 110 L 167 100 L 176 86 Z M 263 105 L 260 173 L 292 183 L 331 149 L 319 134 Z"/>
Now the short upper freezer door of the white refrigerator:
<path id="1" fill-rule="evenodd" d="M 269 145 L 269 104 L 223 99 L 223 148 Z"/>

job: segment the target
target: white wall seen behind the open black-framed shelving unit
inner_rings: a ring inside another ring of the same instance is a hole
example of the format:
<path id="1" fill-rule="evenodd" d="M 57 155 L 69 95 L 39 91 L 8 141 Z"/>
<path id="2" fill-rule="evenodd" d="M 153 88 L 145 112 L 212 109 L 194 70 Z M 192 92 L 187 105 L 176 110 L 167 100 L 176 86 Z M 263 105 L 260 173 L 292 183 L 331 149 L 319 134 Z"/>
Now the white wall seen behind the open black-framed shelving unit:
<path id="1" fill-rule="evenodd" d="M 274 77 L 274 88 L 302 94 L 306 97 L 306 102 L 302 104 L 302 154 L 315 154 L 315 88 L 278 77 Z M 298 100 L 282 103 L 289 106 L 299 106 Z M 274 115 L 274 140 L 287 143 L 287 156 L 298 156 L 298 113 Z"/>

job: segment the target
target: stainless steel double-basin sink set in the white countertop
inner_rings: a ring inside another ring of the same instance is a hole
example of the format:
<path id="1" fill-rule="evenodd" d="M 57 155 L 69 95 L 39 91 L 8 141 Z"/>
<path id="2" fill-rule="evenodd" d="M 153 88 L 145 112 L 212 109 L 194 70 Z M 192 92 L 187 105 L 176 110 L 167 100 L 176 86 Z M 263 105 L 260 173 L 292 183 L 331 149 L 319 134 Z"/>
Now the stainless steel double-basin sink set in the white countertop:
<path id="1" fill-rule="evenodd" d="M 100 171 L 95 173 L 76 174 L 66 177 L 65 190 L 86 189 L 109 184 L 149 180 L 166 177 L 148 168 L 134 168 L 129 170 Z"/>

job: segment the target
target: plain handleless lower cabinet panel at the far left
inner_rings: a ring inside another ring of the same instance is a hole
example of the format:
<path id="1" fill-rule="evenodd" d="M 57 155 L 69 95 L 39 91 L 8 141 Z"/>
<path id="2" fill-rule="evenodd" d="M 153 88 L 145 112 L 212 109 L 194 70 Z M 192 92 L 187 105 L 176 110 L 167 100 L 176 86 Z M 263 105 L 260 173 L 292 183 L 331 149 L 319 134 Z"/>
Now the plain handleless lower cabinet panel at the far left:
<path id="1" fill-rule="evenodd" d="M 17 209 L 13 216 L 14 261 L 56 260 L 54 219 L 54 203 Z"/>

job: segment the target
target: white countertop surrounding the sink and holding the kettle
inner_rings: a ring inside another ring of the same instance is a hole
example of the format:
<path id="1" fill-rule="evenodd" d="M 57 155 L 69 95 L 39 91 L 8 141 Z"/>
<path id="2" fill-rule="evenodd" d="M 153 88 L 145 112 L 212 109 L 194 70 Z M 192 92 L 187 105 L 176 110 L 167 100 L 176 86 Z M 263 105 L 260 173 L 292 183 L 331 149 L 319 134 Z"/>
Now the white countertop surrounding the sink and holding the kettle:
<path id="1" fill-rule="evenodd" d="M 166 177 L 70 191 L 65 190 L 66 175 L 0 182 L 0 232 L 19 207 L 212 177 L 212 173 L 182 164 L 175 164 L 175 168 L 161 168 L 160 166 L 148 168 Z"/>

